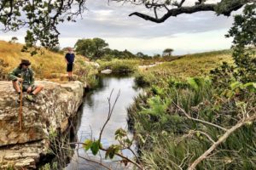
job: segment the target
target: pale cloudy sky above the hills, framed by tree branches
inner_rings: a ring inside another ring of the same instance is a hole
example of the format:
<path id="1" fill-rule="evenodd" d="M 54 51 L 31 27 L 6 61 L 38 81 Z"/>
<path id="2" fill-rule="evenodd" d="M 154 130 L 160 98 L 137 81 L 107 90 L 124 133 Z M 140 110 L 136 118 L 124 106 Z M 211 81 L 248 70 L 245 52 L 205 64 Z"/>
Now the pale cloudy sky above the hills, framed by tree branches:
<path id="1" fill-rule="evenodd" d="M 195 0 L 187 0 L 194 4 Z M 210 3 L 219 0 L 209 0 Z M 232 39 L 224 35 L 233 23 L 233 17 L 217 16 L 213 12 L 181 14 L 164 23 L 154 23 L 128 15 L 138 11 L 153 14 L 143 6 L 108 3 L 108 0 L 87 0 L 87 10 L 77 22 L 65 22 L 58 26 L 61 48 L 73 47 L 82 38 L 100 37 L 109 48 L 129 50 L 133 54 L 162 54 L 165 48 L 173 48 L 173 54 L 193 54 L 230 48 Z M 161 11 L 164 13 L 165 11 Z M 241 10 L 232 13 L 239 14 Z M 24 42 L 26 29 L 17 32 L 0 32 L 0 39 L 9 41 L 18 37 Z"/>

